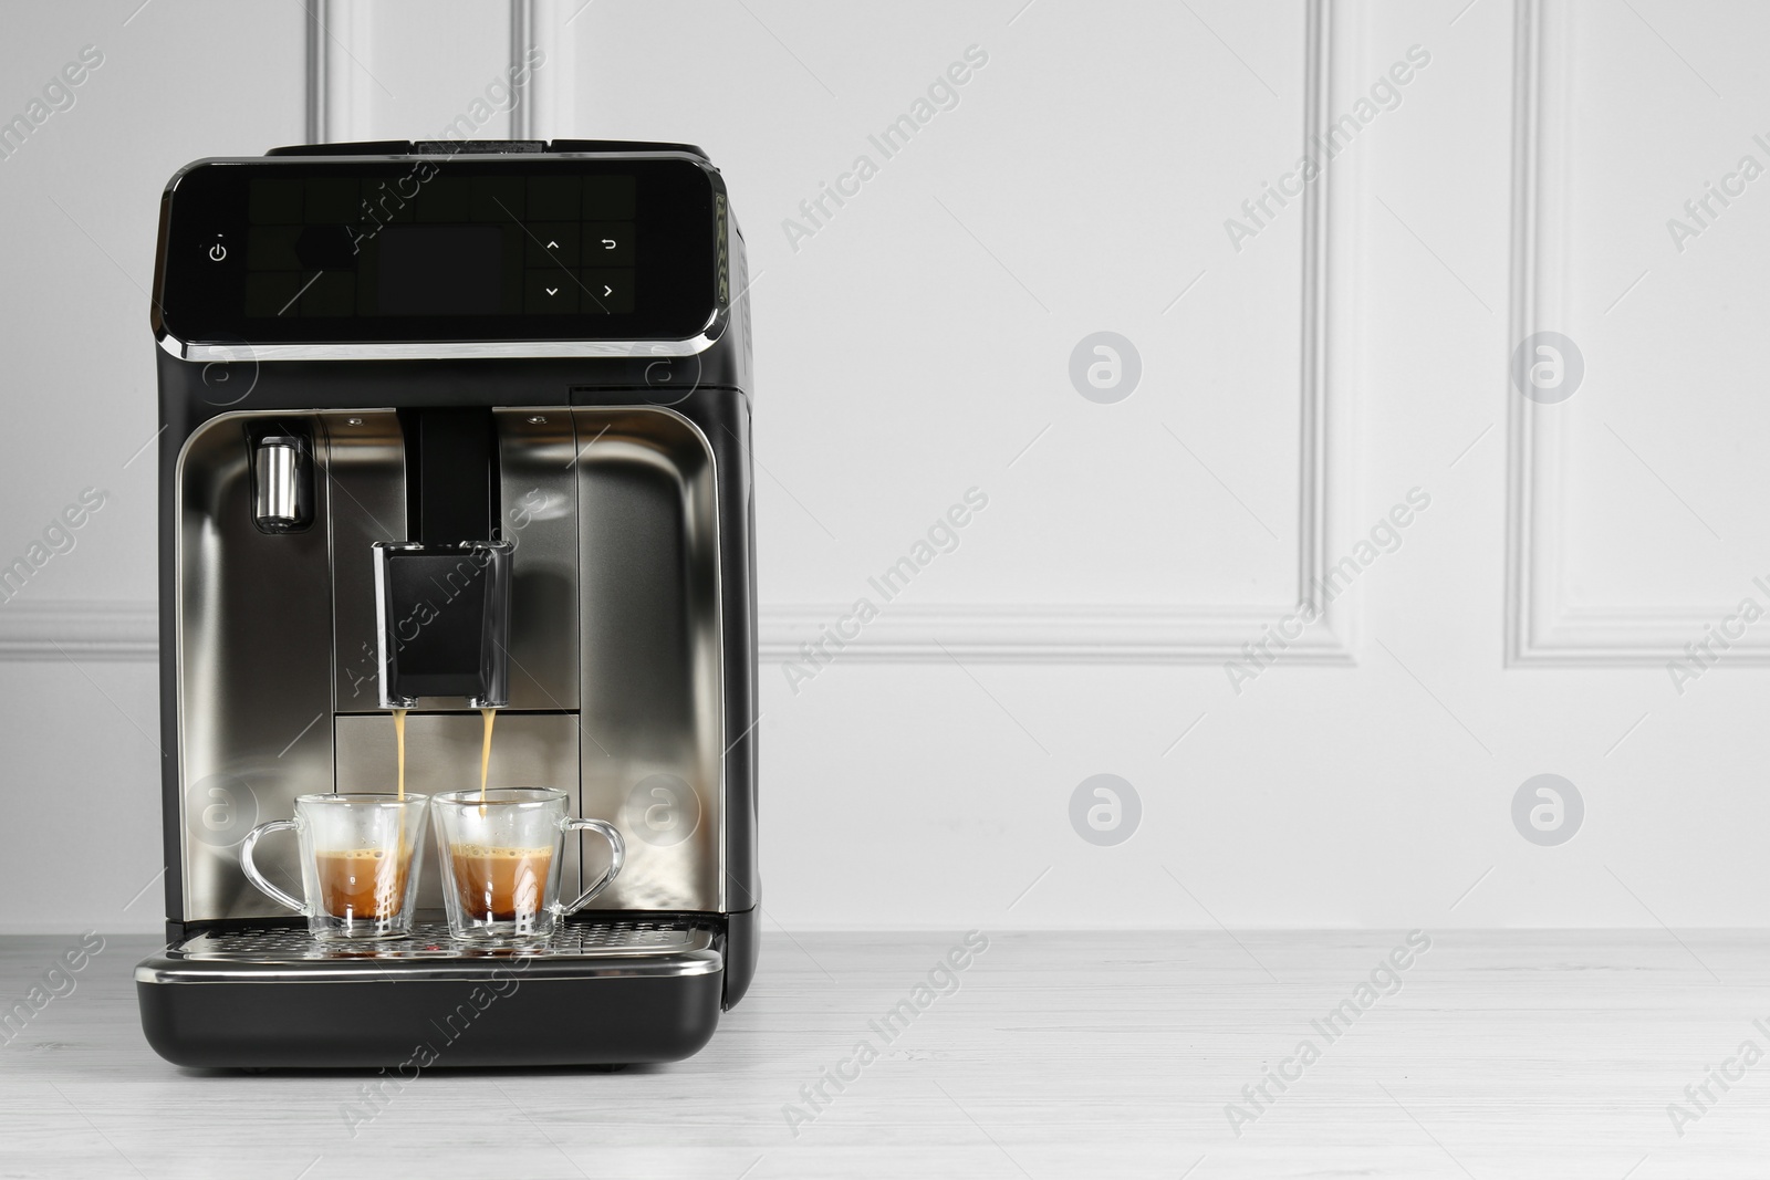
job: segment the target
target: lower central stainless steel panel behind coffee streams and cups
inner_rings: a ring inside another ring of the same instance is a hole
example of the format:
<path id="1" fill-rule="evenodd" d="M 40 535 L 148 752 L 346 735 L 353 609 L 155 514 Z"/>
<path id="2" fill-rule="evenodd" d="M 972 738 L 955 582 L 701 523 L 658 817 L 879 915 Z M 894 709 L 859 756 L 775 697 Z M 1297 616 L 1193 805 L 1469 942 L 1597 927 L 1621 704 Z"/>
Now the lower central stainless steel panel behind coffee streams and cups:
<path id="1" fill-rule="evenodd" d="M 398 745 L 393 716 L 370 713 L 338 716 L 338 789 L 393 791 L 398 785 Z M 405 789 L 419 794 L 480 789 L 480 743 L 485 722 L 478 713 L 409 713 L 405 716 Z M 492 725 L 494 787 L 559 787 L 577 800 L 577 716 L 572 713 L 506 713 Z M 435 819 L 432 817 L 432 826 Z M 598 847 L 600 846 L 600 847 Z M 607 846 L 596 840 L 593 872 L 607 867 Z M 561 893 L 579 879 L 579 847 L 568 842 Z M 418 877 L 418 908 L 442 908 L 442 870 L 435 831 L 425 835 L 425 867 Z"/>

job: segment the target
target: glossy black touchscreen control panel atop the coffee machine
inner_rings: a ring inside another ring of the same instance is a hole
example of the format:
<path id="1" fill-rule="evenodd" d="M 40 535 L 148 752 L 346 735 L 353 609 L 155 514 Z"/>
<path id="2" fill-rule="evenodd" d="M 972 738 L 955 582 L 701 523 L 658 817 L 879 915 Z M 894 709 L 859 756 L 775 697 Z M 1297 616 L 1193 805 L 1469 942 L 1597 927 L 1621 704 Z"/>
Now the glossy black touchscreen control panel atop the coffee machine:
<path id="1" fill-rule="evenodd" d="M 722 188 L 687 159 L 219 161 L 166 202 L 189 343 L 687 340 L 726 297 Z"/>

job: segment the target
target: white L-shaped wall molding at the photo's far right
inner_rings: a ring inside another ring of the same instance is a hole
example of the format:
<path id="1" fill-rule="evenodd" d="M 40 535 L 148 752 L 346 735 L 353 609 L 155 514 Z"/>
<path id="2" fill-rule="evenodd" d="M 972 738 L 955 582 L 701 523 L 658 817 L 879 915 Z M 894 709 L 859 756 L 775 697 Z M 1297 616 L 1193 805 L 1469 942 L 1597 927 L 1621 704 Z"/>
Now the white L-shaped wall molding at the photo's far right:
<path id="1" fill-rule="evenodd" d="M 1512 97 L 1510 347 L 1568 324 L 1568 159 L 1575 119 L 1575 5 L 1517 0 Z M 1506 375 L 1506 663 L 1510 667 L 1662 665 L 1733 614 L 1731 603 L 1586 607 L 1566 579 L 1565 405 L 1519 395 Z M 1745 587 L 1742 594 L 1749 593 Z M 1770 663 L 1770 637 L 1745 632 L 1729 663 Z"/>

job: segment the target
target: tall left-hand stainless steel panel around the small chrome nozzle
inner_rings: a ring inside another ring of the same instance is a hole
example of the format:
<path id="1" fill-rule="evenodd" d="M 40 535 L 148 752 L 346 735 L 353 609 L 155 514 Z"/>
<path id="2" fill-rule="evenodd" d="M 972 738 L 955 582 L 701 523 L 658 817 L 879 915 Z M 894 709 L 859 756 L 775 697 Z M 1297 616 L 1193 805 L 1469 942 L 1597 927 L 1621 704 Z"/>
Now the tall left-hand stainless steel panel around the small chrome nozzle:
<path id="1" fill-rule="evenodd" d="M 285 915 L 246 881 L 239 842 L 255 823 L 290 816 L 297 794 L 333 784 L 326 488 L 315 488 L 310 529 L 260 533 L 248 418 L 202 426 L 177 472 L 186 920 Z M 319 435 L 319 423 L 308 421 Z M 258 865 L 283 888 L 301 890 L 292 839 L 266 840 Z"/>

